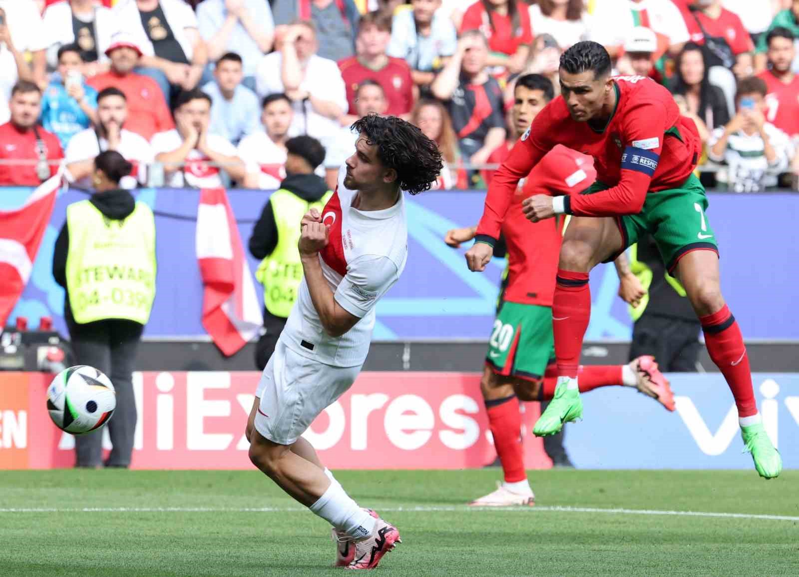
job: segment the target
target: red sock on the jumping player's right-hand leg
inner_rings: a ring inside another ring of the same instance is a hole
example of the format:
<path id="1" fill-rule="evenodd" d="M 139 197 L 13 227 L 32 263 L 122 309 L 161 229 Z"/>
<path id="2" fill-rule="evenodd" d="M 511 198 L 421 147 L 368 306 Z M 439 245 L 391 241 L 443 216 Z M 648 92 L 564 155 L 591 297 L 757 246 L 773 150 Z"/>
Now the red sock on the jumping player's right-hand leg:
<path id="1" fill-rule="evenodd" d="M 738 416 L 754 415 L 757 402 L 754 400 L 752 373 L 749 372 L 749 356 L 735 317 L 725 304 L 712 315 L 701 316 L 699 321 L 705 332 L 707 352 L 733 392 Z"/>

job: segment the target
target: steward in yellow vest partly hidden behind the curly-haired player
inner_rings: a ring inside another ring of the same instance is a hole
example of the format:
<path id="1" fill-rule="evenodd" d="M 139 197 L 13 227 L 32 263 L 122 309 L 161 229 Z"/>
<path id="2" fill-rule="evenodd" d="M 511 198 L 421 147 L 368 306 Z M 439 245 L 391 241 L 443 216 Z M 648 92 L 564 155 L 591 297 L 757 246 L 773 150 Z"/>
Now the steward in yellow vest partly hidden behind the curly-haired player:
<path id="1" fill-rule="evenodd" d="M 252 229 L 249 251 L 260 259 L 256 279 L 264 285 L 264 334 L 256 345 L 256 366 L 263 370 L 277 337 L 286 324 L 303 278 L 300 221 L 308 210 L 322 212 L 332 196 L 314 170 L 324 161 L 324 147 L 316 138 L 300 136 L 286 141 L 286 173 Z"/>

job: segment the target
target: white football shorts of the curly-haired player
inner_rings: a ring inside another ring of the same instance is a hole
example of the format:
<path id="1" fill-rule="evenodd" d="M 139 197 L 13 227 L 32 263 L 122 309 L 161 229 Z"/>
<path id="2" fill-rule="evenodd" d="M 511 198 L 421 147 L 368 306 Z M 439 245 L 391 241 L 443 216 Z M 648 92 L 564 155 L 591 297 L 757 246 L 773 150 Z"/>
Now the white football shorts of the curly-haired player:
<path id="1" fill-rule="evenodd" d="M 359 372 L 360 366 L 334 367 L 309 359 L 279 339 L 256 388 L 256 430 L 273 443 L 294 443 L 352 386 Z"/>

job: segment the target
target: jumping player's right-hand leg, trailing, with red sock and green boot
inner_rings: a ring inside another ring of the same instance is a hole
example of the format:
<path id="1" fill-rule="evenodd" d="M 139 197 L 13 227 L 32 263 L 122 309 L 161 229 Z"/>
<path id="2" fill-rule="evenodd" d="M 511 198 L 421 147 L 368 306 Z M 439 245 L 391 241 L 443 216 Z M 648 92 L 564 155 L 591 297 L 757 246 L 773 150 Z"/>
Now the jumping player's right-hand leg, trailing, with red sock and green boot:
<path id="1" fill-rule="evenodd" d="M 702 323 L 707 352 L 735 397 L 745 450 L 752 454 L 760 476 L 772 479 L 782 471 L 782 458 L 757 411 L 741 328 L 721 296 L 718 255 L 710 250 L 686 253 L 678 261 L 677 273 Z"/>

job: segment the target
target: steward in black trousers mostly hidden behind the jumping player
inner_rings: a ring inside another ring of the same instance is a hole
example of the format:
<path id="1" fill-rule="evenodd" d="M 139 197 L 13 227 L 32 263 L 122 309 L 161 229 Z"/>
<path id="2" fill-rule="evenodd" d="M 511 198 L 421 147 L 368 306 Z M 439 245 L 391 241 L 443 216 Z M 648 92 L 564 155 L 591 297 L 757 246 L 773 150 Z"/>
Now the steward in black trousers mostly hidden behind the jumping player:
<path id="1" fill-rule="evenodd" d="M 641 281 L 646 295 L 630 306 L 634 320 L 630 360 L 654 355 L 662 372 L 694 372 L 702 329 L 680 282 L 672 277 L 650 235 L 630 249 L 630 272 Z"/>

